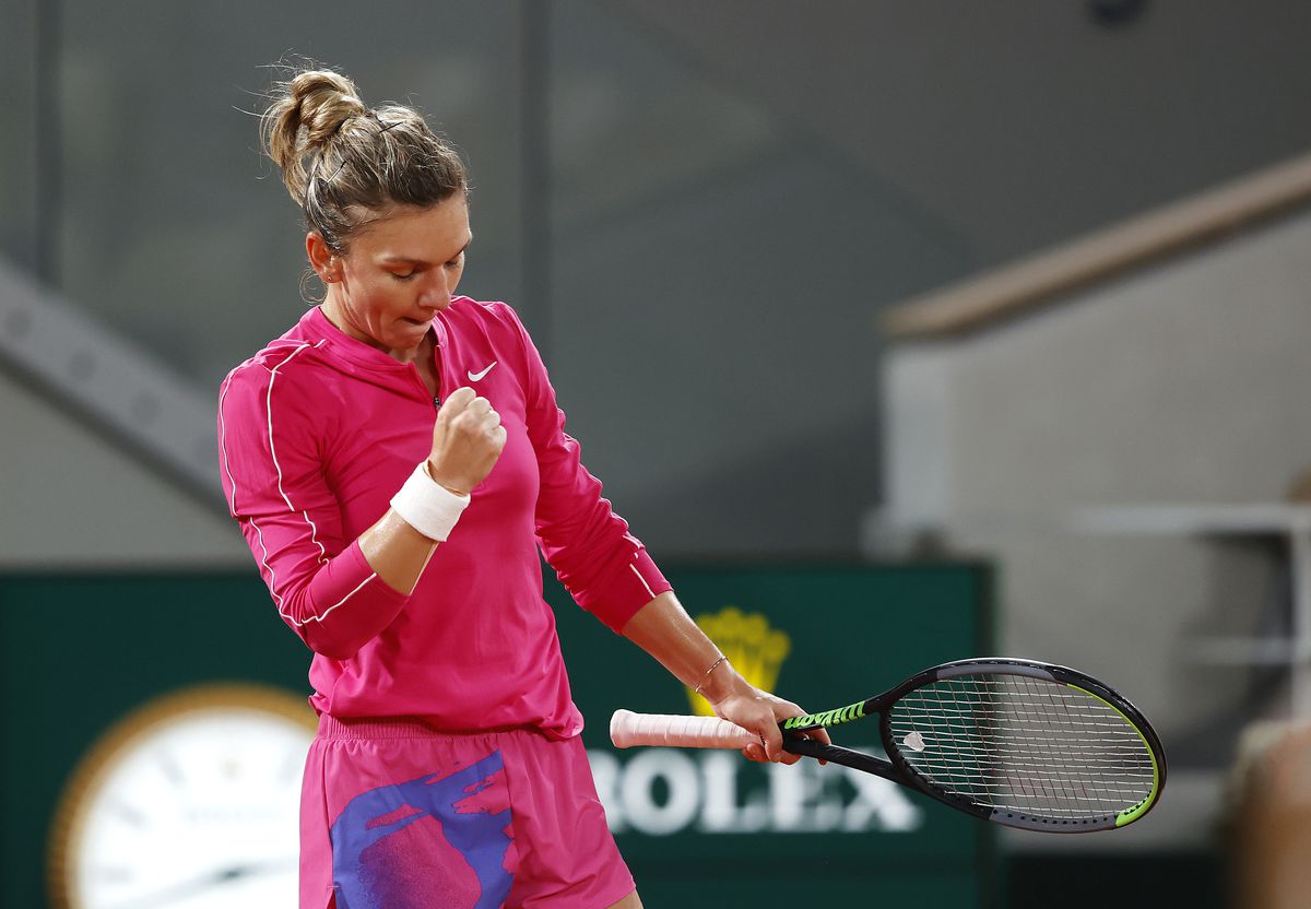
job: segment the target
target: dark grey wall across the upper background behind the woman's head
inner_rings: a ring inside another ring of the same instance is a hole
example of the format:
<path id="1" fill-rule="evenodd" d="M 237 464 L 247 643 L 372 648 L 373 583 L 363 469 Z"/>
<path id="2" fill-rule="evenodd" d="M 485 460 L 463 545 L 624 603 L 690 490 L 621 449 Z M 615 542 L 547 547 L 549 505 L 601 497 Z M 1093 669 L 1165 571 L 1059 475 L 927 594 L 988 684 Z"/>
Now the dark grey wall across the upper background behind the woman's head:
<path id="1" fill-rule="evenodd" d="M 853 554 L 878 307 L 1311 144 L 1291 1 L 105 9 L 0 9 L 10 258 L 214 388 L 303 308 L 261 67 L 338 64 L 464 148 L 464 289 L 520 308 L 666 555 Z"/>

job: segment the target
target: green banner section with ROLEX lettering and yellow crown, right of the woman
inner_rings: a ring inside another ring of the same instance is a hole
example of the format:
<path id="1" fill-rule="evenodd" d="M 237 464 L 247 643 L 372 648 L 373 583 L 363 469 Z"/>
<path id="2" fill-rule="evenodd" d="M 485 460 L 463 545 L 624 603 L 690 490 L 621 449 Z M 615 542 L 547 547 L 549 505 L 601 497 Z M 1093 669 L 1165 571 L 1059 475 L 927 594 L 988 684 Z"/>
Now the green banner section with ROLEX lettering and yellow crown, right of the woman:
<path id="1" fill-rule="evenodd" d="M 991 647 L 979 567 L 675 565 L 667 576 L 739 672 L 809 711 Z M 987 826 L 888 780 L 810 759 L 787 767 L 737 752 L 611 746 L 616 708 L 708 706 L 568 594 L 555 590 L 552 602 L 598 791 L 648 905 L 679 905 L 705 881 L 743 900 L 788 887 L 864 904 L 874 891 L 861 889 L 874 887 L 880 901 L 983 904 Z M 880 754 L 876 724 L 834 740 Z"/>

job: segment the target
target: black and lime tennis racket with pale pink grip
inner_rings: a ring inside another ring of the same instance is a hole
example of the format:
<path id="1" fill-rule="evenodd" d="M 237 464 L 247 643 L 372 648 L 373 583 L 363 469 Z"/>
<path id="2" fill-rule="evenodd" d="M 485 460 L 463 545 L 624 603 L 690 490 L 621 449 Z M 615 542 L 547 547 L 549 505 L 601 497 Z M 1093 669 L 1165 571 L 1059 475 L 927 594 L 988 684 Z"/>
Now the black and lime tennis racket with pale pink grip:
<path id="1" fill-rule="evenodd" d="M 888 758 L 798 733 L 878 714 Z M 1113 830 L 1165 786 L 1147 719 L 1084 673 L 1029 660 L 945 662 L 847 707 L 779 724 L 783 748 L 877 774 L 983 820 L 1047 833 Z M 714 716 L 616 711 L 616 748 L 745 748 L 759 737 Z"/>

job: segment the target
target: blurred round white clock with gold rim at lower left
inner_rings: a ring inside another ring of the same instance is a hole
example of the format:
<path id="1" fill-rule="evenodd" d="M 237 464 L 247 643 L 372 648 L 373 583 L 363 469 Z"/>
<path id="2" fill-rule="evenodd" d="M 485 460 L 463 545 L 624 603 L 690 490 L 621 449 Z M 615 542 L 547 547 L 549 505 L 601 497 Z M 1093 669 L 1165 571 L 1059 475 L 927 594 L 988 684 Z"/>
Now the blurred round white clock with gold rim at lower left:
<path id="1" fill-rule="evenodd" d="M 294 906 L 300 777 L 315 715 L 277 689 L 153 700 L 97 742 L 50 841 L 60 909 Z"/>

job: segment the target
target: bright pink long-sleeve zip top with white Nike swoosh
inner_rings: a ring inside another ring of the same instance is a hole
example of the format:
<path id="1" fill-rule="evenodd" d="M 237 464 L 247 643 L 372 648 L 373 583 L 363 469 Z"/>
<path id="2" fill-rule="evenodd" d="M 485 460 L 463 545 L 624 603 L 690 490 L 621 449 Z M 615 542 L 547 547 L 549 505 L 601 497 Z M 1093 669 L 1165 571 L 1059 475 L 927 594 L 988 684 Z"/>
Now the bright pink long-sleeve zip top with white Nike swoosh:
<path id="1" fill-rule="evenodd" d="M 582 716 L 539 546 L 615 631 L 670 585 L 579 462 L 514 311 L 458 296 L 433 331 L 440 400 L 472 386 L 507 441 L 413 593 L 383 582 L 357 539 L 427 456 L 437 401 L 413 365 L 343 334 L 317 307 L 223 382 L 228 506 L 278 613 L 315 652 L 320 712 L 576 736 Z"/>

